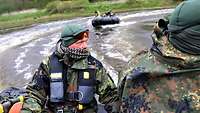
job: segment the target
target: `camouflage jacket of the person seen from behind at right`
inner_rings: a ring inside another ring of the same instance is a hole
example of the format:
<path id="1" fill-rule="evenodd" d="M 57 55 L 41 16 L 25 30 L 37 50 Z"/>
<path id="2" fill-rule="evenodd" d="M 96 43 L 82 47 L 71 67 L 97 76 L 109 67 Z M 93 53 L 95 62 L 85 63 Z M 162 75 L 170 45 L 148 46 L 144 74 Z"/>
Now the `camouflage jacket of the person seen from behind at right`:
<path id="1" fill-rule="evenodd" d="M 175 49 L 167 37 L 130 60 L 120 84 L 123 113 L 199 113 L 200 56 Z"/>

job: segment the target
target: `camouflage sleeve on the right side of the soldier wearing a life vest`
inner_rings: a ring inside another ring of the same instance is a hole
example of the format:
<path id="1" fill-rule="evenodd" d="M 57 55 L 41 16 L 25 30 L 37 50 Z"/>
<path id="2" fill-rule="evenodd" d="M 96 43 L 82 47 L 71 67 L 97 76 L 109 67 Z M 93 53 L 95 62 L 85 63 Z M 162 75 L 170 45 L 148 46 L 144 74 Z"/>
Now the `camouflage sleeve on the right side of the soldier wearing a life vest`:
<path id="1" fill-rule="evenodd" d="M 97 72 L 99 102 L 104 104 L 108 113 L 117 113 L 119 111 L 119 95 L 114 81 L 104 68 Z"/>

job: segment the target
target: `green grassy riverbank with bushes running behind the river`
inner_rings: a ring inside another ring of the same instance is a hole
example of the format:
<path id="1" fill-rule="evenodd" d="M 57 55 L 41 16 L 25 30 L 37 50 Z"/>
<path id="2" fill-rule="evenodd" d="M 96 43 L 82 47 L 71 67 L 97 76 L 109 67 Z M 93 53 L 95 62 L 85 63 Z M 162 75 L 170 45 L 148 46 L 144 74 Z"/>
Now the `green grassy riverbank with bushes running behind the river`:
<path id="1" fill-rule="evenodd" d="M 177 3 L 173 0 L 128 0 L 124 3 L 98 2 L 89 3 L 87 0 L 56 1 L 50 3 L 46 9 L 34 13 L 0 16 L 0 33 L 24 28 L 33 24 L 71 19 L 74 17 L 94 15 L 95 10 L 105 12 L 125 12 L 148 8 L 173 7 Z"/>

